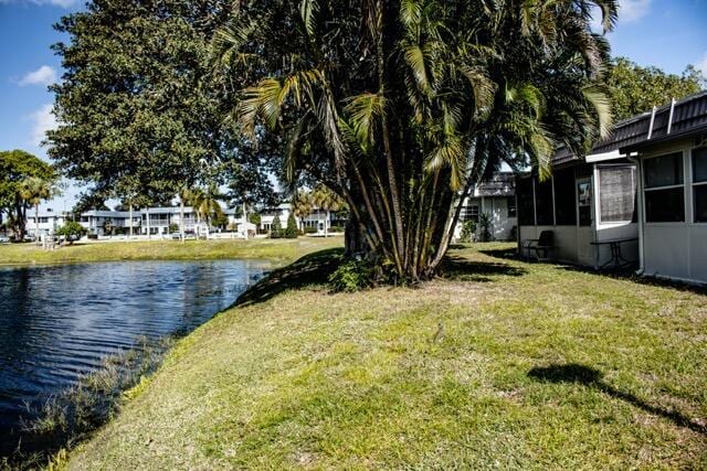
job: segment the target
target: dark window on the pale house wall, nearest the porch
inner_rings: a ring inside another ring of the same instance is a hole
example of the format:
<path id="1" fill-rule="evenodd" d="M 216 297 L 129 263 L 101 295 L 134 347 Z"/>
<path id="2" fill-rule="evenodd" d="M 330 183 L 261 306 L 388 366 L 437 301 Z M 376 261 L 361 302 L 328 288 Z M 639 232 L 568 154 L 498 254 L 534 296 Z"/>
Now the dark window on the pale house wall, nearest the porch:
<path id="1" fill-rule="evenodd" d="M 647 223 L 684 222 L 683 153 L 675 152 L 644 160 L 643 179 L 645 221 Z"/>

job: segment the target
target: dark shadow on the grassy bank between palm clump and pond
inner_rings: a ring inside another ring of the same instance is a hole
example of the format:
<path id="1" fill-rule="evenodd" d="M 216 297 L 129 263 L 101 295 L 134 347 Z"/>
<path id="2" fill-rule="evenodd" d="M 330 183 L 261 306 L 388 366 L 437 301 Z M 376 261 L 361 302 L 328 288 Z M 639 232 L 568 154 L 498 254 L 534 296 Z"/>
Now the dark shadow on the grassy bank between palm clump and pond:
<path id="1" fill-rule="evenodd" d="M 342 248 L 329 248 L 305 255 L 283 268 L 277 268 L 235 300 L 233 306 L 264 302 L 291 289 L 325 283 L 339 265 Z"/>

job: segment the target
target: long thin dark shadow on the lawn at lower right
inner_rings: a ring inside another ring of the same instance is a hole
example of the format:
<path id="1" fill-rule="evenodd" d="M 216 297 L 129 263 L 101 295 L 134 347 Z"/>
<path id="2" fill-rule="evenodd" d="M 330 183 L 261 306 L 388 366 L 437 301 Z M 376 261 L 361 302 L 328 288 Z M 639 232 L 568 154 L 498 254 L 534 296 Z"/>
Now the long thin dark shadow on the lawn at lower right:
<path id="1" fill-rule="evenodd" d="M 707 435 L 707 425 L 682 415 L 676 410 L 668 410 L 653 406 L 631 393 L 624 393 L 602 381 L 602 373 L 589 366 L 577 363 L 564 365 L 536 366 L 528 372 L 528 376 L 546 383 L 574 383 L 587 387 L 592 387 L 602 393 L 630 403 L 648 414 L 669 419 L 678 427 L 685 427 L 698 433 Z"/>

